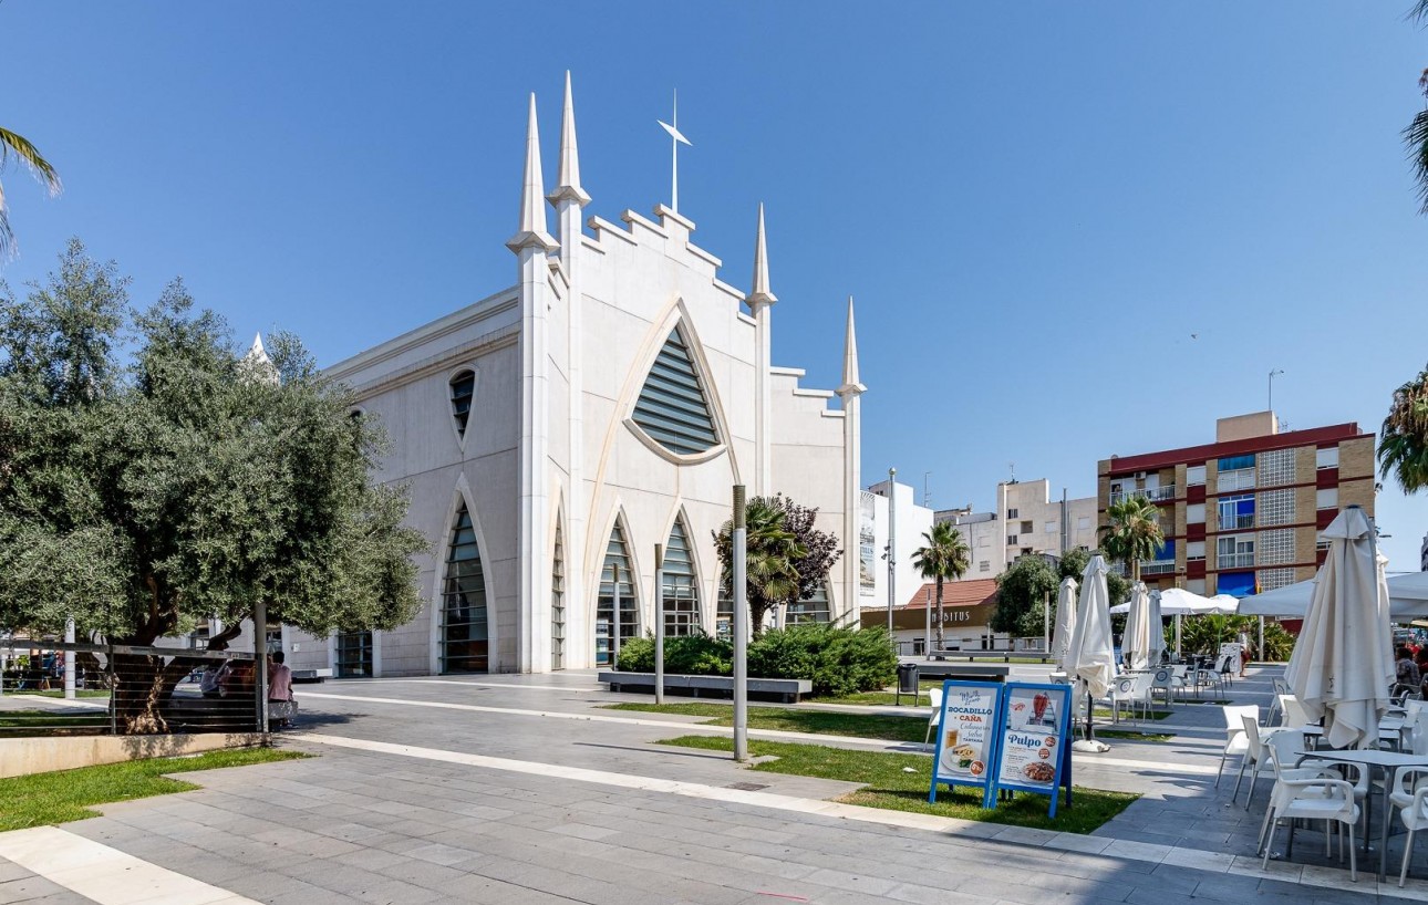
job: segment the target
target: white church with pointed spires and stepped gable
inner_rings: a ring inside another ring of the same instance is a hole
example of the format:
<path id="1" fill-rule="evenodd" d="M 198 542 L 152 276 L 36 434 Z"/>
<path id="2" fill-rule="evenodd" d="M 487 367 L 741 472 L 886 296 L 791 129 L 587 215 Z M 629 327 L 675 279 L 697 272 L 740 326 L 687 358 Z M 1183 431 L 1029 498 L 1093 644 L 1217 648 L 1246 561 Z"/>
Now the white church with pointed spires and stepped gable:
<path id="1" fill-rule="evenodd" d="M 431 554 L 417 618 L 334 638 L 291 631 L 294 668 L 605 665 L 617 571 L 620 634 L 653 630 L 655 545 L 668 632 L 727 632 L 713 532 L 734 484 L 817 507 L 844 548 L 825 591 L 783 620 L 857 624 L 865 387 L 851 300 L 843 384 L 801 387 L 801 370 L 770 361 L 778 300 L 761 207 L 747 293 L 693 243 L 677 183 L 653 217 L 587 213 L 568 74 L 558 163 L 548 187 L 531 96 L 514 283 L 328 368 L 390 434 L 378 478 L 410 488 L 408 522 Z"/>

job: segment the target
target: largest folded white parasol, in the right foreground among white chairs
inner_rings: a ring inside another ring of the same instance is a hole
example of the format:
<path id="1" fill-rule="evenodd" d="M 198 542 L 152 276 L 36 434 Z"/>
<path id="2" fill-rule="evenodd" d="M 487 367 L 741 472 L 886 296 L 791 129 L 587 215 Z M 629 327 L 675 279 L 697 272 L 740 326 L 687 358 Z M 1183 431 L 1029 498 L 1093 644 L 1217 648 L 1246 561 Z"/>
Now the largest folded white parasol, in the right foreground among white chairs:
<path id="1" fill-rule="evenodd" d="M 1324 530 L 1319 567 L 1304 630 L 1284 672 L 1309 719 L 1324 718 L 1334 748 L 1378 742 L 1378 721 L 1394 681 L 1387 585 L 1374 524 L 1351 505 Z"/>

